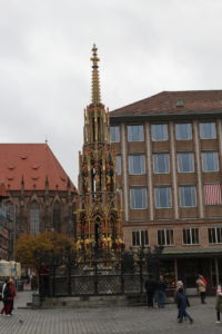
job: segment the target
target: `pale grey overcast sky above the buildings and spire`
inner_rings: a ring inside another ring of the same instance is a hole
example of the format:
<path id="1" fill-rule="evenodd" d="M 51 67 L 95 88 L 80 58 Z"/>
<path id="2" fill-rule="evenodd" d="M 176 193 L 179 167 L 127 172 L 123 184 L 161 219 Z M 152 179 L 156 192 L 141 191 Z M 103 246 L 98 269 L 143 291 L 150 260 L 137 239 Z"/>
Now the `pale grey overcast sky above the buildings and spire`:
<path id="1" fill-rule="evenodd" d="M 221 0 L 0 0 L 0 143 L 49 145 L 77 183 L 91 48 L 113 110 L 221 89 Z"/>

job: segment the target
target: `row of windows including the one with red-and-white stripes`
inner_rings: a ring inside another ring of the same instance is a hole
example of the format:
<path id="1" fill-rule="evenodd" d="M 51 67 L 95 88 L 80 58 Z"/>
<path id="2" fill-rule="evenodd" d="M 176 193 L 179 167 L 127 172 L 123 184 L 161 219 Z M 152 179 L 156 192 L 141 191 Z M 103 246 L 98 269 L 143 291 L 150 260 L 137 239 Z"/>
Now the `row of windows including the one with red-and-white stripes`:
<path id="1" fill-rule="evenodd" d="M 219 183 L 204 184 L 203 195 L 205 205 L 222 205 L 221 185 Z M 195 186 L 179 186 L 180 206 L 196 206 Z M 172 207 L 172 190 L 169 186 L 154 187 L 155 208 Z M 132 209 L 148 208 L 147 187 L 130 188 L 130 207 Z"/>

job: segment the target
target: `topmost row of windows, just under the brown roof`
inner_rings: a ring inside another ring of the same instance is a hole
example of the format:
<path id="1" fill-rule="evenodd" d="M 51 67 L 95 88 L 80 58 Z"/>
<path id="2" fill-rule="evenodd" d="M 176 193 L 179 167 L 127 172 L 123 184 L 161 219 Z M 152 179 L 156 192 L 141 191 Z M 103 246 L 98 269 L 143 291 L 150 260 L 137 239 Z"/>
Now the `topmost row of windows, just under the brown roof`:
<path id="1" fill-rule="evenodd" d="M 201 139 L 215 139 L 216 126 L 215 122 L 200 122 L 200 138 Z M 169 139 L 168 124 L 158 124 L 151 126 L 152 140 L 162 141 Z M 176 140 L 191 140 L 193 138 L 192 124 L 182 122 L 175 124 L 175 139 Z M 110 127 L 111 143 L 120 143 L 120 127 Z M 128 141 L 144 141 L 144 129 L 142 125 L 128 126 Z"/>

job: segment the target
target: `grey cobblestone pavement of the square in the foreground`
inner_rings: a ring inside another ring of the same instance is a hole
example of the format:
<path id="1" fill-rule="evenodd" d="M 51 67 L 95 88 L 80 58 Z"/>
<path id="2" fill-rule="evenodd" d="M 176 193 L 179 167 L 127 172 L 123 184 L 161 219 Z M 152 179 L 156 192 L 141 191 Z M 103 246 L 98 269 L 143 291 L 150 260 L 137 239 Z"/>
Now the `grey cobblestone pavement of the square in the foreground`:
<path id="1" fill-rule="evenodd" d="M 30 297 L 30 295 L 27 295 Z M 20 299 L 20 301 L 19 301 Z M 194 323 L 176 323 L 175 305 L 163 310 L 147 306 L 102 308 L 18 310 L 23 306 L 21 293 L 16 301 L 14 315 L 0 316 L 0 333 L 3 334 L 214 334 L 222 333 L 222 324 L 215 324 L 214 298 L 201 305 L 191 298 L 190 314 Z"/>

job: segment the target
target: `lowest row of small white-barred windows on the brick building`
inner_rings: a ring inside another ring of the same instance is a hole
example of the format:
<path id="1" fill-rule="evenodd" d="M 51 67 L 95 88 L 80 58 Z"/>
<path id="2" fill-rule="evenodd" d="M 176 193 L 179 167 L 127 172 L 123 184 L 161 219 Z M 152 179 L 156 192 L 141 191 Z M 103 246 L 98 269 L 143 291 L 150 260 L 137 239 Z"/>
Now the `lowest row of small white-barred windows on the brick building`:
<path id="1" fill-rule="evenodd" d="M 199 245 L 199 228 L 183 228 L 183 245 Z M 222 244 L 222 227 L 208 228 L 209 244 Z M 173 246 L 174 234 L 173 228 L 158 229 L 158 245 Z M 148 229 L 132 230 L 132 246 L 149 246 Z"/>

